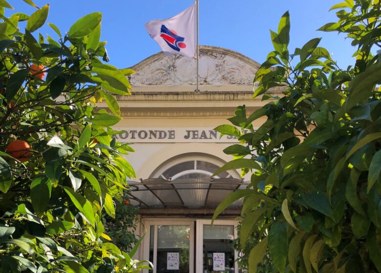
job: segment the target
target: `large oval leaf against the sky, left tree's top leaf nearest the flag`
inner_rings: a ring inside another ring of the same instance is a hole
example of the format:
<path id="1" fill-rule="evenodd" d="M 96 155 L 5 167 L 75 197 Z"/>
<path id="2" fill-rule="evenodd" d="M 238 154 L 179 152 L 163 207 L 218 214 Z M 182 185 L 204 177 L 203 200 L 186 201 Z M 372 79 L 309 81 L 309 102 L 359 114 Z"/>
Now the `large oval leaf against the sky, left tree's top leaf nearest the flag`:
<path id="1" fill-rule="evenodd" d="M 101 22 L 102 13 L 94 12 L 76 21 L 69 29 L 69 37 L 80 38 L 89 35 Z"/>

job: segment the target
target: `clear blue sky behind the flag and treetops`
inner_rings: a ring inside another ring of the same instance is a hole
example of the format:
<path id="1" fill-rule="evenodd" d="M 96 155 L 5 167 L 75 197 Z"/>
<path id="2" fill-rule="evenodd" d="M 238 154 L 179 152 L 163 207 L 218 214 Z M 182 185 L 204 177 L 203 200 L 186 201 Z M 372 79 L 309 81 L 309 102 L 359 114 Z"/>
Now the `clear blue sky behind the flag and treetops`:
<path id="1" fill-rule="evenodd" d="M 35 8 L 22 0 L 8 0 L 15 11 L 31 14 Z M 47 0 L 34 0 L 38 6 Z M 320 46 L 328 49 L 342 68 L 352 65 L 355 49 L 343 34 L 316 31 L 337 20 L 329 8 L 340 0 L 199 0 L 200 44 L 225 47 L 259 63 L 273 50 L 269 29 L 277 30 L 282 14 L 291 16 L 290 49 L 308 40 L 322 37 Z M 107 42 L 110 64 L 118 68 L 132 66 L 160 51 L 144 28 L 148 20 L 167 19 L 190 6 L 192 0 L 51 0 L 47 22 L 56 24 L 62 33 L 82 16 L 103 13 L 101 39 Z M 22 27 L 24 25 L 21 25 Z M 50 27 L 39 30 L 58 38 Z"/>

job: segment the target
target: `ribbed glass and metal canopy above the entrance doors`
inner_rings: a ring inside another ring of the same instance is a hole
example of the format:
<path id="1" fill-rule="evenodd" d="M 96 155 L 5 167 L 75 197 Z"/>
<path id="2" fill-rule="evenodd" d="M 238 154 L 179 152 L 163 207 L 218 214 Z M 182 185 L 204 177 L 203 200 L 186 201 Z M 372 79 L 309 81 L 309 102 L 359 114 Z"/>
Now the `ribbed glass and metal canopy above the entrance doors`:
<path id="1" fill-rule="evenodd" d="M 236 178 L 176 179 L 149 178 L 130 182 L 131 204 L 140 208 L 215 209 L 230 193 L 245 189 L 249 182 Z M 229 208 L 240 208 L 242 201 Z"/>

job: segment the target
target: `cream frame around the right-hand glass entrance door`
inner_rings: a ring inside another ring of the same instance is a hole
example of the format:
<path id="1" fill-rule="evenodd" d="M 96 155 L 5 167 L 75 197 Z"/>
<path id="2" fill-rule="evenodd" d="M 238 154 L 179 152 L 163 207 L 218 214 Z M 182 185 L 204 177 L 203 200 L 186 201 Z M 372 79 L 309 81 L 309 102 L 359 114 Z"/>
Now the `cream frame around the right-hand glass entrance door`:
<path id="1" fill-rule="evenodd" d="M 236 220 L 214 220 L 213 225 L 234 226 L 234 239 L 237 238 L 237 223 Z M 212 225 L 212 219 L 197 219 L 196 220 L 196 271 L 203 272 L 203 225 Z M 234 273 L 238 273 L 238 252 L 234 250 Z"/>

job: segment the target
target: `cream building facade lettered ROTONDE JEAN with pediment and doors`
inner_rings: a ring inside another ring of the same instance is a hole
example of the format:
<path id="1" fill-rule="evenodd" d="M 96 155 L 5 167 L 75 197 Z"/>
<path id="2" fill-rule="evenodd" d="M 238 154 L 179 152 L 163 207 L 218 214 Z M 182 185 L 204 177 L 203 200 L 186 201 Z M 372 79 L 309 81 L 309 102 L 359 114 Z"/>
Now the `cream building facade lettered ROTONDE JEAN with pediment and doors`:
<path id="1" fill-rule="evenodd" d="M 152 261 L 154 273 L 239 272 L 232 242 L 241 203 L 213 225 L 211 218 L 250 177 L 237 171 L 211 177 L 233 159 L 223 150 L 237 143 L 213 129 L 229 124 L 239 105 L 248 115 L 264 105 L 251 99 L 259 64 L 212 46 L 200 47 L 199 62 L 199 92 L 194 59 L 158 53 L 131 67 L 133 94 L 117 96 L 124 119 L 116 129 L 127 131 L 118 141 L 134 143 L 136 151 L 127 156 L 138 178 L 130 181 L 130 202 L 140 207 L 138 232 L 146 234 L 136 258 Z M 263 120 L 255 122 L 254 128 Z"/>

